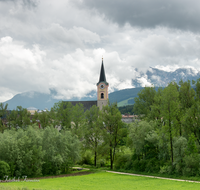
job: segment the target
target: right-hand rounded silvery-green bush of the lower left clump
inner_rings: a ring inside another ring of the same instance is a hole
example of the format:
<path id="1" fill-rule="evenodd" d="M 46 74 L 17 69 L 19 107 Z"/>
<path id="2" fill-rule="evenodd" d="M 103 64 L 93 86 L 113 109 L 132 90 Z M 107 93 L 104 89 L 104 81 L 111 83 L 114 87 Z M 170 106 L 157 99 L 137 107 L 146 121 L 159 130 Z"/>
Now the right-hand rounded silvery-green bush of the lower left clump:
<path id="1" fill-rule="evenodd" d="M 79 158 L 79 141 L 70 131 L 46 127 L 43 133 L 42 149 L 45 151 L 43 174 L 60 174 Z"/>

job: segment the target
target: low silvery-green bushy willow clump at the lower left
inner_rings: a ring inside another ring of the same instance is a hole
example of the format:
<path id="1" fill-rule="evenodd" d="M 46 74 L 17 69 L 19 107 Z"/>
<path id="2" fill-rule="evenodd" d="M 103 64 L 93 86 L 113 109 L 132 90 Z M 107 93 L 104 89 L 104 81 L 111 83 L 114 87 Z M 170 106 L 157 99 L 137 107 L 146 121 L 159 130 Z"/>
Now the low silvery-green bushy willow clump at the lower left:
<path id="1" fill-rule="evenodd" d="M 0 178 L 66 173 L 79 158 L 79 141 L 53 127 L 5 130 L 0 134 Z M 7 164 L 8 165 L 7 165 Z M 4 166 L 4 167 L 3 167 Z"/>

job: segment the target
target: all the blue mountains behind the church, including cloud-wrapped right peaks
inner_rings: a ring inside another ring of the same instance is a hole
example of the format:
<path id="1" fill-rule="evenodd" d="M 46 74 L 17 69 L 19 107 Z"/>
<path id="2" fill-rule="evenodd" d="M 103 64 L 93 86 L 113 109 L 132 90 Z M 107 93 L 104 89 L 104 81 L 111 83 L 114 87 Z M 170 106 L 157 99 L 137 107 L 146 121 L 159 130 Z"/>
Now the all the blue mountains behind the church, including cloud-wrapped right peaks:
<path id="1" fill-rule="evenodd" d="M 139 73 L 137 77 L 132 79 L 133 88 L 116 90 L 109 94 L 109 101 L 111 103 L 117 102 L 118 106 L 131 105 L 134 104 L 134 97 L 144 86 L 149 86 L 153 84 L 155 87 L 165 87 L 171 81 L 183 81 L 187 80 L 197 80 L 200 78 L 200 72 L 194 68 L 179 68 L 175 71 L 164 71 L 158 68 L 149 68 L 146 73 Z M 157 88 L 156 88 L 157 90 Z M 37 109 L 43 110 L 45 108 L 51 109 L 54 103 L 62 101 L 61 99 L 56 99 L 57 92 L 50 90 L 50 94 L 44 94 L 40 92 L 25 92 L 15 95 L 12 99 L 4 102 L 8 103 L 8 109 L 16 109 L 17 106 L 22 106 L 23 108 L 35 107 Z M 89 101 L 96 100 L 96 91 L 89 92 L 85 97 L 78 98 L 73 97 L 66 101 Z"/>

